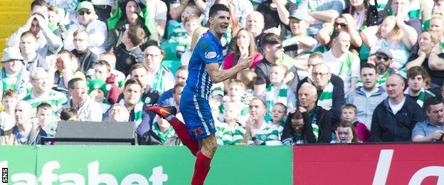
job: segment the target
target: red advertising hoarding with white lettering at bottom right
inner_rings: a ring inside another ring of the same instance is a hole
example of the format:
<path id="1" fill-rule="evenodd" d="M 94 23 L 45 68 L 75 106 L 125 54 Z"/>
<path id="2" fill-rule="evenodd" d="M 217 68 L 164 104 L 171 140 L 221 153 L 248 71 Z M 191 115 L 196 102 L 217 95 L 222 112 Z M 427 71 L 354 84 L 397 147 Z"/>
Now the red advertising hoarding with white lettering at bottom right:
<path id="1" fill-rule="evenodd" d="M 444 144 L 295 146 L 293 184 L 444 184 Z"/>

